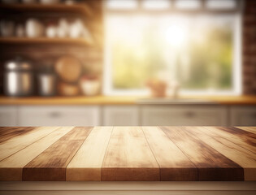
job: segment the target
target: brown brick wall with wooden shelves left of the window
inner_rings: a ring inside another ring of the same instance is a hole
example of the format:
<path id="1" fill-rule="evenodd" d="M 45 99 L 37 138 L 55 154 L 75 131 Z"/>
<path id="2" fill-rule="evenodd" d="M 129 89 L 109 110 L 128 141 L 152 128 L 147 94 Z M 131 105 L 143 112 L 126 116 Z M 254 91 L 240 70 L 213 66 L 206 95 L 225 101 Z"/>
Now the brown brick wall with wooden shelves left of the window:
<path id="1" fill-rule="evenodd" d="M 37 19 L 40 20 L 45 28 L 48 25 L 58 24 L 60 19 L 66 19 L 69 21 L 80 19 L 84 22 L 86 28 L 89 29 L 90 36 L 93 37 L 93 46 L 79 43 L 79 41 L 73 41 L 72 38 L 67 38 L 67 42 L 59 41 L 59 43 L 48 42 L 46 44 L 39 41 L 28 41 L 29 38 L 21 37 L 24 41 L 15 41 L 16 37 L 2 37 L 0 33 L 0 94 L 3 94 L 3 75 L 4 75 L 4 64 L 16 58 L 17 56 L 28 60 L 33 64 L 33 67 L 37 70 L 37 67 L 43 65 L 50 65 L 54 67 L 54 64 L 58 58 L 62 56 L 71 55 L 78 60 L 83 66 L 84 74 L 93 74 L 98 75 L 99 78 L 102 76 L 102 1 L 97 0 L 81 0 L 74 1 L 75 8 L 72 10 L 70 8 L 67 11 L 54 11 L 53 8 L 50 8 L 49 11 L 33 11 L 32 8 L 29 8 L 29 4 L 21 3 L 22 1 L 17 1 L 19 3 L 15 4 L 0 4 L 0 20 L 9 20 L 17 24 L 26 24 L 28 19 Z M 65 6 L 64 1 L 62 5 Z M 0 0 L 1 3 L 1 0 Z M 76 3 L 80 3 L 77 6 L 86 6 L 89 9 L 89 15 L 82 13 L 81 11 L 76 11 Z M 15 5 L 17 4 L 17 9 Z M 41 6 L 39 1 L 37 1 L 37 6 Z M 5 8 L 7 6 L 7 8 Z M 10 6 L 11 8 L 8 8 Z M 25 6 L 25 8 L 22 8 Z M 48 5 L 49 7 L 54 4 Z M 58 4 L 57 4 L 58 6 Z M 27 8 L 26 8 L 27 7 Z M 33 7 L 33 5 L 32 5 Z M 61 8 L 61 7 L 60 7 Z M 28 11 L 27 11 L 27 10 Z M 37 8 L 38 9 L 38 8 Z M 46 38 L 46 35 L 43 36 Z M 10 41 L 11 40 L 11 41 Z M 32 39 L 33 40 L 33 39 Z M 47 40 L 47 38 L 46 38 Z M 58 38 L 56 38 L 58 41 Z M 55 40 L 55 41 L 56 41 Z"/>

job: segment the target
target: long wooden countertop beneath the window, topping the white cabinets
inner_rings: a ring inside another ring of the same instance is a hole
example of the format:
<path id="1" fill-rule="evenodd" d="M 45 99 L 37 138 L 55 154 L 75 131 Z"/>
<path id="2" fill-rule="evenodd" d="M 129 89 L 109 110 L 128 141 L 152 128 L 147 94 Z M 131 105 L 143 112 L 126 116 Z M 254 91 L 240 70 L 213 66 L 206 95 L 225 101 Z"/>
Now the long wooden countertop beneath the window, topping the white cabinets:
<path id="1" fill-rule="evenodd" d="M 132 105 L 132 104 L 186 104 L 186 103 L 217 103 L 223 105 L 256 105 L 256 96 L 181 96 L 180 98 L 150 98 L 150 97 L 0 97 L 0 105 Z"/>

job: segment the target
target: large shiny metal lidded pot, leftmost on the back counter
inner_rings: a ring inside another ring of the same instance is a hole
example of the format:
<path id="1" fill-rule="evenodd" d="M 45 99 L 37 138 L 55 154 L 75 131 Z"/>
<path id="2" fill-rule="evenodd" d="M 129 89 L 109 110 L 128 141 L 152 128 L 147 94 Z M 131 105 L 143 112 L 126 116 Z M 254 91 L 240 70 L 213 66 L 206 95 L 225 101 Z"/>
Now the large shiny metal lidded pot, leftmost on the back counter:
<path id="1" fill-rule="evenodd" d="M 33 95 L 33 66 L 21 58 L 5 64 L 3 90 L 7 96 Z"/>

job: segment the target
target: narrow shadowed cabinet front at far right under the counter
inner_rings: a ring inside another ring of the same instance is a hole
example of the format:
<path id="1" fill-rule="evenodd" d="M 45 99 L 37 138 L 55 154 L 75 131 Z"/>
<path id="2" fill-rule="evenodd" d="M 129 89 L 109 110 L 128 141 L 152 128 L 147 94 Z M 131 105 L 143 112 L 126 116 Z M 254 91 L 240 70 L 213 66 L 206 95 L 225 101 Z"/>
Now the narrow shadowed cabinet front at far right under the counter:
<path id="1" fill-rule="evenodd" d="M 256 106 L 232 106 L 232 126 L 256 126 Z"/>

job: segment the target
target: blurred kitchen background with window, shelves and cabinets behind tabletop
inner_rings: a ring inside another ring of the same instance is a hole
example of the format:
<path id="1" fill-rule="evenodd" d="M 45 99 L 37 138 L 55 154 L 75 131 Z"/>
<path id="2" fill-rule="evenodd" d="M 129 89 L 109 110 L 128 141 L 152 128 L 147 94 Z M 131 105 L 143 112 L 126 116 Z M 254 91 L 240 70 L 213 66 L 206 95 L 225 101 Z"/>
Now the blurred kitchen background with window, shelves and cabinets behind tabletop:
<path id="1" fill-rule="evenodd" d="M 0 126 L 256 125 L 256 1 L 0 3 Z"/>

